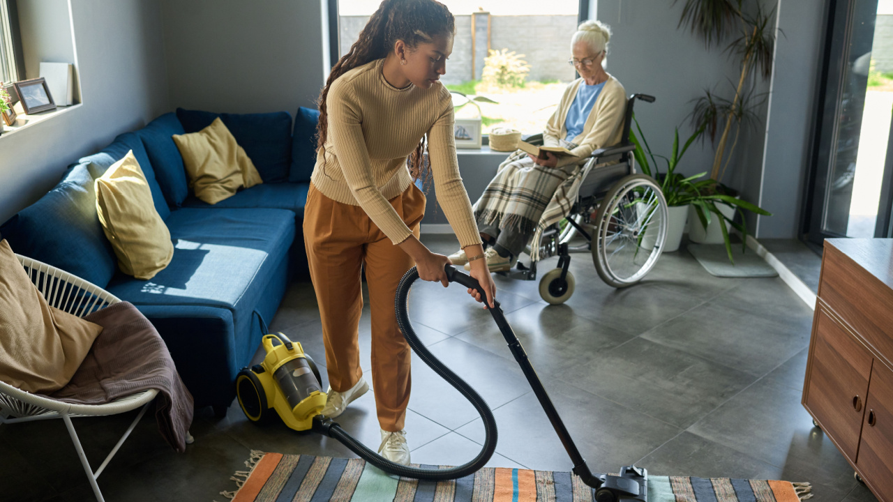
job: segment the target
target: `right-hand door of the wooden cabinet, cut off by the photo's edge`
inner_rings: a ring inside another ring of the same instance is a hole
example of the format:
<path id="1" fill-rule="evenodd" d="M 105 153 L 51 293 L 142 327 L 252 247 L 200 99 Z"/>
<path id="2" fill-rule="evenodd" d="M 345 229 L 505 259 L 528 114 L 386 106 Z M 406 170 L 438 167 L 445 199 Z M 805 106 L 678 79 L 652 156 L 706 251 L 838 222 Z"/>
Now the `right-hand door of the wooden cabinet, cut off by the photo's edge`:
<path id="1" fill-rule="evenodd" d="M 893 372 L 874 362 L 855 466 L 880 500 L 893 500 Z"/>

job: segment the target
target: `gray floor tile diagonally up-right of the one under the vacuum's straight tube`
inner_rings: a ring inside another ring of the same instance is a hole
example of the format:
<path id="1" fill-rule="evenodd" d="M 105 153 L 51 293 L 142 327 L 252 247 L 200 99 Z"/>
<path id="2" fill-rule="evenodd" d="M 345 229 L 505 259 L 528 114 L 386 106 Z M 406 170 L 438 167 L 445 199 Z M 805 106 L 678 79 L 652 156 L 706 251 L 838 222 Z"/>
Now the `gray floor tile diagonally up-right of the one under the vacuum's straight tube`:
<path id="1" fill-rule="evenodd" d="M 686 428 L 756 380 L 699 356 L 636 338 L 556 375 L 639 413 Z"/>

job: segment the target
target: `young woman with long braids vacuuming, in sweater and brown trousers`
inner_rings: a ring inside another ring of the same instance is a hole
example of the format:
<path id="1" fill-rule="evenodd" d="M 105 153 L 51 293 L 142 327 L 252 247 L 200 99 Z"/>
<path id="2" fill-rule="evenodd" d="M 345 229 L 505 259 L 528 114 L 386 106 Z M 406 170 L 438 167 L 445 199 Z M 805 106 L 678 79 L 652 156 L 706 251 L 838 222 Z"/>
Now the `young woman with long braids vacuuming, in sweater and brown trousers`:
<path id="1" fill-rule="evenodd" d="M 431 253 L 419 241 L 425 197 L 413 180 L 422 172 L 433 174 L 438 202 L 486 296 L 471 289 L 469 294 L 487 305 L 496 294 L 459 176 L 453 102 L 438 82 L 447 72 L 454 31 L 453 14 L 434 0 L 381 3 L 322 89 L 316 165 L 305 207 L 305 247 L 330 382 L 322 413 L 338 416 L 369 389 L 357 343 L 364 267 L 379 452 L 399 464 L 410 461 L 404 423 L 411 349 L 396 323 L 396 287 L 413 265 L 422 280 L 448 284 L 447 256 Z M 422 162 L 426 137 L 428 169 Z"/>

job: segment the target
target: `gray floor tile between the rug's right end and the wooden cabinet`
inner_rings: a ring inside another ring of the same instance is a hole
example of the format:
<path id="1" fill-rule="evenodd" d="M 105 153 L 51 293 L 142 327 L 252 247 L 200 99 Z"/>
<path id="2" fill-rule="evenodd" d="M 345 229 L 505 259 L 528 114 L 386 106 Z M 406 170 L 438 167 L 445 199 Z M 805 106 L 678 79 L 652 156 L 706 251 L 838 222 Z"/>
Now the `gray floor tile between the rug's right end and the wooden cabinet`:
<path id="1" fill-rule="evenodd" d="M 800 404 L 801 392 L 757 381 L 688 431 L 784 469 L 789 481 L 848 492 L 852 469 Z"/>

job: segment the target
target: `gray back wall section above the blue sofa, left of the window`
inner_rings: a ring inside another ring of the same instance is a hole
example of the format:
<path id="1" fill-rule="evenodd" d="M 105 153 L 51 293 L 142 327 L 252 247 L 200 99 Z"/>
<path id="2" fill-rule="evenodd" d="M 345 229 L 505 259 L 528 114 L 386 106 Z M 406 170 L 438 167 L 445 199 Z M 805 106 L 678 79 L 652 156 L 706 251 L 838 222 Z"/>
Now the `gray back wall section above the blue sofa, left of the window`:
<path id="1" fill-rule="evenodd" d="M 171 107 L 228 113 L 314 106 L 321 2 L 162 0 Z"/>

